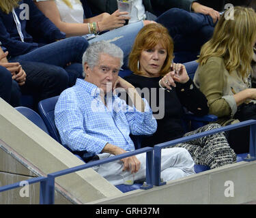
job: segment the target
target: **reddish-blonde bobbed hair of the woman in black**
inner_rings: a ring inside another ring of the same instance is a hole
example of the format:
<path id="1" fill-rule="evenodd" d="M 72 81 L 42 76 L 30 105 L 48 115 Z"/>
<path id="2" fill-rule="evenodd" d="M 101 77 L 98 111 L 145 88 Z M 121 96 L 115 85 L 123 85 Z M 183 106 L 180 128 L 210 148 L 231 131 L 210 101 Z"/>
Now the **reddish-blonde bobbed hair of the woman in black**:
<path id="1" fill-rule="evenodd" d="M 141 52 L 145 49 L 154 48 L 158 43 L 161 43 L 167 50 L 167 58 L 162 65 L 160 75 L 164 76 L 169 72 L 171 61 L 173 60 L 173 40 L 169 35 L 168 29 L 158 23 L 152 23 L 139 31 L 132 46 L 132 51 L 129 55 L 129 68 L 134 74 L 143 74 L 137 67 Z"/>

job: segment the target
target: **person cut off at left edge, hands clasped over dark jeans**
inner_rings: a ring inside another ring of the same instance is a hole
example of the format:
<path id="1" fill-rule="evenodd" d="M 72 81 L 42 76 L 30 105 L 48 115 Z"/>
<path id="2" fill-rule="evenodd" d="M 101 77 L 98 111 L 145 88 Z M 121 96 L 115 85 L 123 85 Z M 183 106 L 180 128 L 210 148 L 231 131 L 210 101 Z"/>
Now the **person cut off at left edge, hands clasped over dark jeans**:
<path id="1" fill-rule="evenodd" d="M 20 106 L 21 94 L 33 95 L 33 110 L 38 102 L 48 97 L 60 95 L 68 87 L 66 77 L 61 77 L 60 67 L 31 61 L 10 63 L 8 52 L 0 48 L 0 97 L 13 107 Z"/>

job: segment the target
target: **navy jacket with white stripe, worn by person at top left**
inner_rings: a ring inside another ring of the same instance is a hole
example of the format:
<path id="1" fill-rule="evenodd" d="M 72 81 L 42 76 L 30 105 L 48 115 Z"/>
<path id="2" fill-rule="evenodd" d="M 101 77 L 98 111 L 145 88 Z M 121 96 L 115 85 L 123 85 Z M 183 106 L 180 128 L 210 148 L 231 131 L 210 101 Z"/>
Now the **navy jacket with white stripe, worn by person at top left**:
<path id="1" fill-rule="evenodd" d="M 27 5 L 22 5 L 23 3 Z M 20 39 L 12 12 L 5 14 L 0 9 L 0 42 L 8 50 L 10 56 L 27 54 L 46 43 L 55 42 L 55 40 L 66 37 L 65 33 L 59 31 L 53 22 L 38 10 L 32 0 L 22 0 L 19 5 L 20 7 L 15 8 L 15 12 L 20 21 L 24 42 Z M 28 20 L 25 18 L 26 15 Z M 36 43 L 33 36 L 44 38 L 44 44 Z"/>

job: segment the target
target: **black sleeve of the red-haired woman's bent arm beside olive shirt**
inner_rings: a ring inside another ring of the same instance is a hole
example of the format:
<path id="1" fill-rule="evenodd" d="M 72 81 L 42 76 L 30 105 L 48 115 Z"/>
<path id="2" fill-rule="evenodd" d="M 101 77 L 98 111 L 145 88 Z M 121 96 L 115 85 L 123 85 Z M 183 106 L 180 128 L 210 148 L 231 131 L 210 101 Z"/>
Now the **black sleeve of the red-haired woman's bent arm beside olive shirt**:
<path id="1" fill-rule="evenodd" d="M 176 93 L 182 106 L 187 108 L 190 112 L 193 112 L 193 114 L 197 116 L 208 114 L 208 100 L 205 95 L 197 89 L 193 80 L 189 79 L 185 84 L 176 82 Z"/>

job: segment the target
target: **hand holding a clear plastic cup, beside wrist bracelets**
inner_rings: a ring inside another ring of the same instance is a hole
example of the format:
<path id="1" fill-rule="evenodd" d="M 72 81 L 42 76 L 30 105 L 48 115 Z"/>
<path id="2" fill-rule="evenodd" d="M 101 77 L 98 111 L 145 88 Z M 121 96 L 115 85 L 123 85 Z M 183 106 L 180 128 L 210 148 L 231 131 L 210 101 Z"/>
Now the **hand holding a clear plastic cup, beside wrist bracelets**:
<path id="1" fill-rule="evenodd" d="M 103 16 L 102 21 L 98 22 L 100 31 L 123 27 L 126 22 L 125 20 L 130 20 L 130 16 L 127 16 L 128 14 L 128 12 L 119 12 L 119 10 L 116 10 L 110 16 Z"/>

